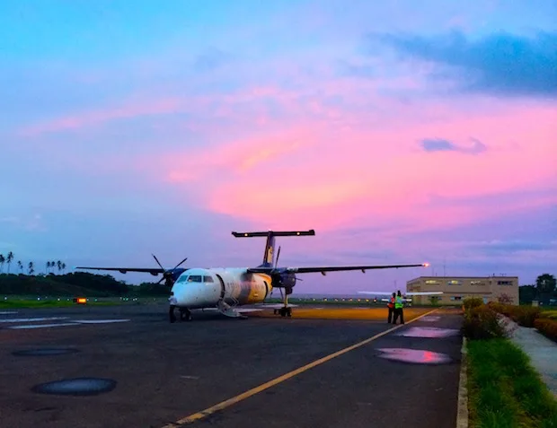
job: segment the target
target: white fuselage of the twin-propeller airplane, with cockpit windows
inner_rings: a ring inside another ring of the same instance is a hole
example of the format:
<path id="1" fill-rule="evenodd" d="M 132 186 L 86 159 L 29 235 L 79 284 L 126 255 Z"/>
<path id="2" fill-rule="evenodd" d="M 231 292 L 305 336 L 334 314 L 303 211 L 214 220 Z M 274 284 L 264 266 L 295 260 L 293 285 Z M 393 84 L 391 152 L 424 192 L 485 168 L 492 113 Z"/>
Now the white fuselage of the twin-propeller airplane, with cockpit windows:
<path id="1" fill-rule="evenodd" d="M 172 285 L 171 305 L 185 309 L 214 308 L 218 301 L 261 303 L 272 289 L 270 276 L 248 274 L 246 267 L 192 268 Z"/>

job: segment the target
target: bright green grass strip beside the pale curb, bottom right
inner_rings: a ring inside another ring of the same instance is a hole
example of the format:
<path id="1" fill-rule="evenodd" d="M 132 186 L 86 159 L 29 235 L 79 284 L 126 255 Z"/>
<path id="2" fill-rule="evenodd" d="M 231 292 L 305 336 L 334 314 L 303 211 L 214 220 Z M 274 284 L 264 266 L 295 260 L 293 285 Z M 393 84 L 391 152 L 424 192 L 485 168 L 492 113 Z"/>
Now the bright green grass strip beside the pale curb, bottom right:
<path id="1" fill-rule="evenodd" d="M 508 339 L 468 341 L 471 428 L 557 428 L 557 400 Z"/>

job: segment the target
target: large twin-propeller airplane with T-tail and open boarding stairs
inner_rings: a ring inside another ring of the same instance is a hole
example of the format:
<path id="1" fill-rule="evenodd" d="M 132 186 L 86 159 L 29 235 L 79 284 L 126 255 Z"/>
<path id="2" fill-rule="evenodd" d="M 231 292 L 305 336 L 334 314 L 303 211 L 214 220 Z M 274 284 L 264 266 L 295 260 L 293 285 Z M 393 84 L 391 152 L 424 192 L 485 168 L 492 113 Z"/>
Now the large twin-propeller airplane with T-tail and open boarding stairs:
<path id="1" fill-rule="evenodd" d="M 281 317 L 291 317 L 291 308 L 288 305 L 288 295 L 293 293 L 296 285 L 297 274 L 321 273 L 327 275 L 328 272 L 361 270 L 366 273 L 368 269 L 389 269 L 399 267 L 423 267 L 429 263 L 412 265 L 388 265 L 388 266 L 310 266 L 310 267 L 279 267 L 280 247 L 277 258 L 274 258 L 275 238 L 286 236 L 314 236 L 313 229 L 309 231 L 245 231 L 232 232 L 235 238 L 256 238 L 266 237 L 267 243 L 263 252 L 263 261 L 259 266 L 253 267 L 179 267 L 187 258 L 184 258 L 172 269 L 164 269 L 159 260 L 153 255 L 160 268 L 149 267 L 91 267 L 76 266 L 76 269 L 88 270 L 111 270 L 119 271 L 122 274 L 127 272 L 143 272 L 151 275 L 163 274 L 160 284 L 165 280 L 165 284 L 171 287 L 169 318 L 170 322 L 175 322 L 174 310 L 178 308 L 181 320 L 190 320 L 191 310 L 198 309 L 217 309 L 223 315 L 232 318 L 245 318 L 242 310 L 236 307 L 242 305 L 252 305 L 263 303 L 274 288 L 278 288 L 282 297 L 282 304 L 267 305 L 274 307 L 275 314 Z M 282 293 L 284 289 L 284 295 Z M 249 310 L 247 310 L 249 311 Z"/>

